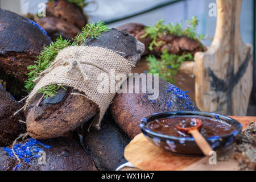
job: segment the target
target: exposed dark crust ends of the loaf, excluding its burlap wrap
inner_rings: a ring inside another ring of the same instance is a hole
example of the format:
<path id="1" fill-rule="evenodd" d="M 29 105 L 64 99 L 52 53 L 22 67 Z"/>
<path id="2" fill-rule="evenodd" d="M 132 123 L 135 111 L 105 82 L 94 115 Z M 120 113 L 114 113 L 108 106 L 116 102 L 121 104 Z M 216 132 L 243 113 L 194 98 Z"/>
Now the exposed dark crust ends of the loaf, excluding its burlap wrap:
<path id="1" fill-rule="evenodd" d="M 126 32 L 115 29 L 102 33 L 98 39 L 88 39 L 82 45 L 105 47 L 123 52 L 118 54 L 133 64 L 137 63 L 144 51 L 141 42 Z M 73 92 L 77 91 L 67 88 L 67 92 L 62 90 L 52 99 L 44 99 L 39 106 L 36 106 L 42 96 L 38 94 L 34 104 L 26 112 L 27 131 L 32 138 L 60 137 L 68 131 L 75 130 L 96 114 L 98 107 L 94 102 L 84 96 L 71 95 L 70 93 Z"/>

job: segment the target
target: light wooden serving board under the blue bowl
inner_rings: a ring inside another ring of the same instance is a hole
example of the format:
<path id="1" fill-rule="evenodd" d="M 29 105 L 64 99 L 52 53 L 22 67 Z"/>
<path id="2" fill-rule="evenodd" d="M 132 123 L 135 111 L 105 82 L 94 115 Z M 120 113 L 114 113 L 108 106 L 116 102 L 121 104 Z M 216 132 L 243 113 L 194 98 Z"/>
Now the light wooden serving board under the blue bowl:
<path id="1" fill-rule="evenodd" d="M 245 129 L 256 117 L 232 117 L 239 121 Z M 237 162 L 208 163 L 209 157 L 174 155 L 149 142 L 143 134 L 137 135 L 125 148 L 125 158 L 131 164 L 143 171 L 171 170 L 236 170 Z"/>

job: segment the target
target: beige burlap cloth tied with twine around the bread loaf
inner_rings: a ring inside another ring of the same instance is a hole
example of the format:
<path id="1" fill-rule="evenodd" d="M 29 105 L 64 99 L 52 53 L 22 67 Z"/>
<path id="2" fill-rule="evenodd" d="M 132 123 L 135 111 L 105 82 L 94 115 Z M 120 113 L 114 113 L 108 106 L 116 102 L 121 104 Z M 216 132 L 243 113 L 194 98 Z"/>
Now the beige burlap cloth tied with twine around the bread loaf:
<path id="1" fill-rule="evenodd" d="M 110 92 L 110 88 L 115 88 L 118 83 L 115 79 L 114 82 L 110 81 L 112 77 L 110 70 L 113 69 L 115 74 L 122 73 L 127 77 L 133 67 L 130 61 L 107 48 L 89 46 L 65 48 L 58 53 L 52 65 L 34 80 L 36 85 L 27 98 L 24 98 L 26 104 L 22 109 L 25 110 L 32 104 L 40 88 L 52 84 L 70 86 L 98 105 L 100 113 L 96 114 L 92 126 L 100 129 L 101 119 L 115 96 L 115 93 Z M 98 86 L 103 82 L 98 80 L 98 76 L 102 73 L 107 74 L 109 78 L 104 82 L 104 85 L 109 85 L 107 93 L 98 92 Z"/>

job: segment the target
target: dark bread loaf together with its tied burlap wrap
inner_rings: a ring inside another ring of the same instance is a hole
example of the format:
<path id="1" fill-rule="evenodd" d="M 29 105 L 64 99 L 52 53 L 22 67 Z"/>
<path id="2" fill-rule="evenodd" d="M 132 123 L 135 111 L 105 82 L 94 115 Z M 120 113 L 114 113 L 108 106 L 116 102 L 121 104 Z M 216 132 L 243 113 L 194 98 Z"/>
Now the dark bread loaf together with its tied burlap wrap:
<path id="1" fill-rule="evenodd" d="M 100 120 L 115 93 L 96 93 L 98 73 L 109 74 L 113 68 L 127 74 L 143 52 L 141 42 L 115 29 L 102 33 L 98 39 L 86 40 L 81 47 L 61 51 L 52 66 L 42 72 L 39 85 L 27 99 L 28 134 L 35 139 L 59 137 L 92 117 L 93 126 L 100 128 Z M 44 98 L 37 105 L 41 96 L 36 90 L 52 83 L 68 86 L 67 91 L 60 90 L 55 98 Z"/>

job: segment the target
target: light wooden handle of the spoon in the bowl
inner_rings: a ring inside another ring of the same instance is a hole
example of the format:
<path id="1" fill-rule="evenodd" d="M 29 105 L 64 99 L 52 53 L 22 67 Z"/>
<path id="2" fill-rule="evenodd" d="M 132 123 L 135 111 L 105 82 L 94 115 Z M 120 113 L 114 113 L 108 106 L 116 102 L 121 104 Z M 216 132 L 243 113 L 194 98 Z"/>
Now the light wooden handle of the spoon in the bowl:
<path id="1" fill-rule="evenodd" d="M 212 147 L 210 147 L 207 140 L 204 139 L 204 137 L 199 133 L 198 130 L 189 130 L 189 133 L 193 136 L 197 146 L 199 146 L 205 156 L 208 156 L 209 152 L 213 151 Z"/>

